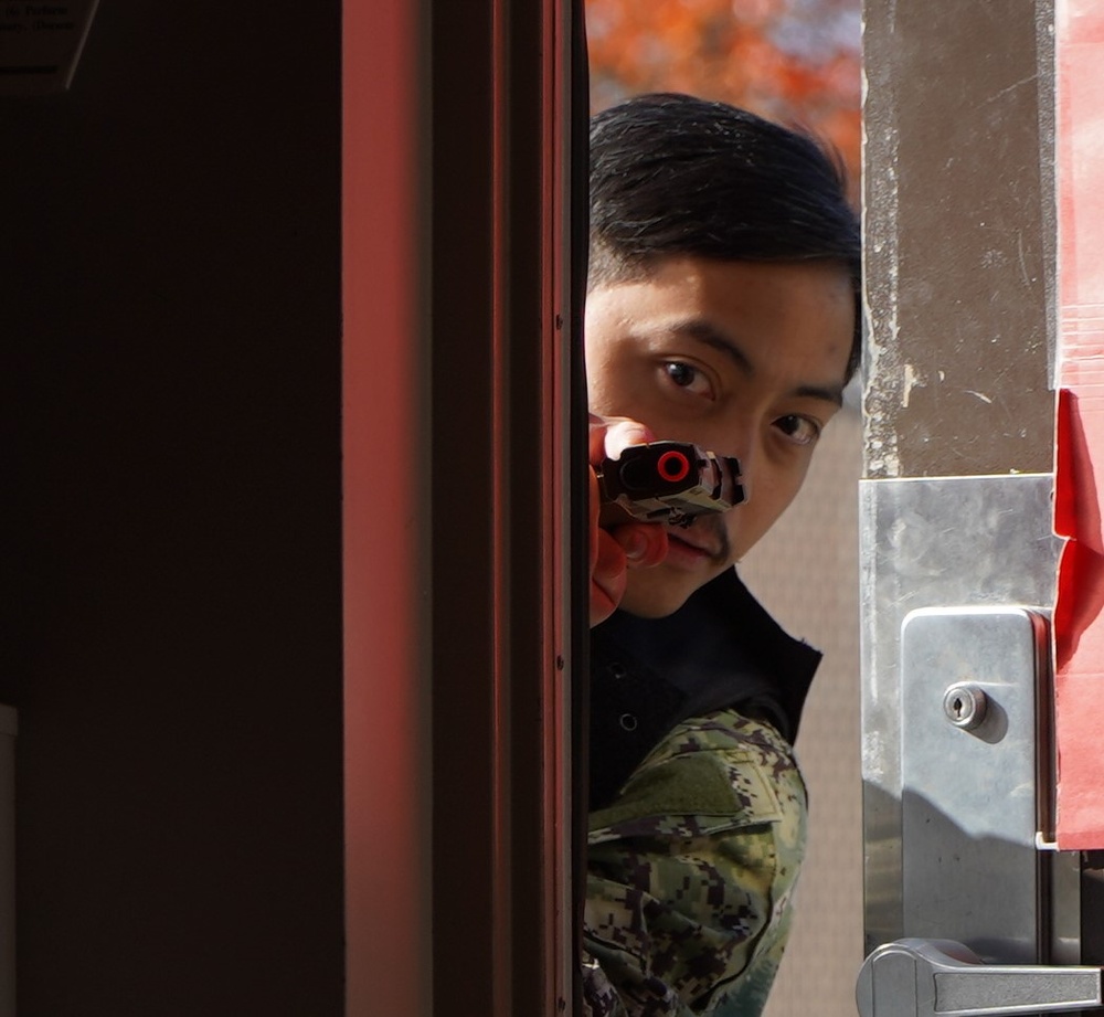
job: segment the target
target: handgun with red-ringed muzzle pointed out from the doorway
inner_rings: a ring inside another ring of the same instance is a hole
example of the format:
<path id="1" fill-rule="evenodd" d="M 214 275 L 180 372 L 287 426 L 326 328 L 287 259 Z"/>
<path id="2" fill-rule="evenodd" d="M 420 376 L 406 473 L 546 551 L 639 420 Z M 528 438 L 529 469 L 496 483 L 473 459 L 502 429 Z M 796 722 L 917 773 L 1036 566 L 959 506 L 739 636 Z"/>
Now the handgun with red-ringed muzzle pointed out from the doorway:
<path id="1" fill-rule="evenodd" d="M 646 522 L 688 527 L 697 516 L 745 500 L 740 462 L 689 442 L 629 445 L 595 473 L 603 502 Z"/>

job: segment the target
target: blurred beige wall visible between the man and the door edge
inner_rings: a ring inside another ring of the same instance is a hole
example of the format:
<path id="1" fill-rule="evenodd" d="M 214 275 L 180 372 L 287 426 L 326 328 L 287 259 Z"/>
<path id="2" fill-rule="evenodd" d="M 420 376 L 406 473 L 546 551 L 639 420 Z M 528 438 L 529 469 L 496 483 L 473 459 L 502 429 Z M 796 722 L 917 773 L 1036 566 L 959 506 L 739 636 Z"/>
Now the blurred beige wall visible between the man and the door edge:
<path id="1" fill-rule="evenodd" d="M 809 788 L 808 856 L 766 1017 L 856 1013 L 862 963 L 861 465 L 859 415 L 845 410 L 825 432 L 798 498 L 740 565 L 744 582 L 778 622 L 825 654 L 797 739 Z"/>

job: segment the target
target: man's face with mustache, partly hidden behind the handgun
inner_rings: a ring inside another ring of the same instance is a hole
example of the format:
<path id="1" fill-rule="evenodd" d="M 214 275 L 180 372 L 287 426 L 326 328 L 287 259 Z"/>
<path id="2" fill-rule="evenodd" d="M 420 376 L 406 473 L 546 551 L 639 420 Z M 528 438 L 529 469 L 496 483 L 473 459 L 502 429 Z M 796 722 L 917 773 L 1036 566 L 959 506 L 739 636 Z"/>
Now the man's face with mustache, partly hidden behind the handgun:
<path id="1" fill-rule="evenodd" d="M 828 262 L 680 256 L 646 279 L 591 290 L 591 411 L 736 456 L 747 491 L 723 515 L 668 527 L 667 560 L 629 570 L 622 607 L 677 611 L 774 525 L 839 409 L 853 328 L 850 278 Z"/>

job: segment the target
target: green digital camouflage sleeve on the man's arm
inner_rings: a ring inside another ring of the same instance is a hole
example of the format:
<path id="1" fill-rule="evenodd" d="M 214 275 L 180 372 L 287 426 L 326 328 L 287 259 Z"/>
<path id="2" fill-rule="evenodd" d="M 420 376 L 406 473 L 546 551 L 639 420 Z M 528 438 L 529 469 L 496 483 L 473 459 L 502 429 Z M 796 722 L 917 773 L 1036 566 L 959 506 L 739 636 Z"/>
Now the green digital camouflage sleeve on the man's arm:
<path id="1" fill-rule="evenodd" d="M 773 728 L 681 724 L 591 815 L 588 1017 L 755 1017 L 789 930 L 805 786 Z"/>

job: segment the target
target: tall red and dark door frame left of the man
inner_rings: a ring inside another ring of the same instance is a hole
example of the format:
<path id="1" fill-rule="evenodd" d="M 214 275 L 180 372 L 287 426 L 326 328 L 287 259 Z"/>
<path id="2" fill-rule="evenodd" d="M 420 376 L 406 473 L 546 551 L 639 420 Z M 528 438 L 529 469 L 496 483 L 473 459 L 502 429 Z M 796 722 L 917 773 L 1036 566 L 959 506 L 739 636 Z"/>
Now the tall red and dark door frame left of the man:
<path id="1" fill-rule="evenodd" d="M 571 995 L 567 8 L 344 4 L 350 1015 Z"/>

